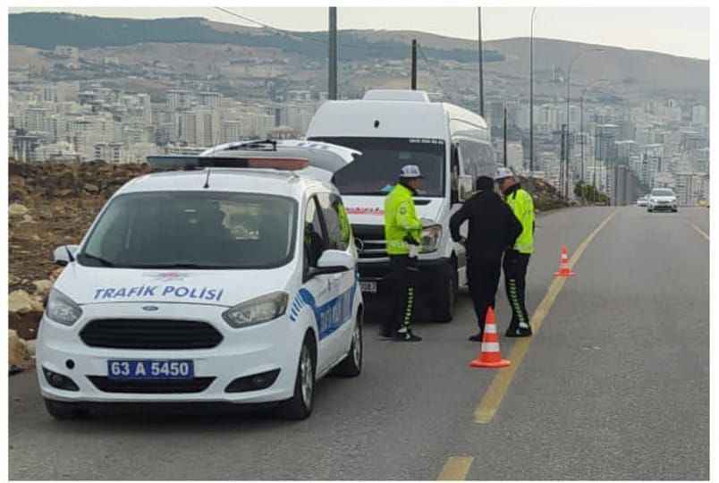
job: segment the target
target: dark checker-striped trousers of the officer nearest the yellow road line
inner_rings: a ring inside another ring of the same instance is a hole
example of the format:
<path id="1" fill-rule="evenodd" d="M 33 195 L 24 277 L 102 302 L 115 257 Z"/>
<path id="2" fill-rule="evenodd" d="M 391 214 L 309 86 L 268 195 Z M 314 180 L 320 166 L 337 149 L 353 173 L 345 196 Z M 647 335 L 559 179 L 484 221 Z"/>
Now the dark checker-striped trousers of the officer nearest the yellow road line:
<path id="1" fill-rule="evenodd" d="M 529 314 L 525 305 L 525 280 L 527 278 L 529 257 L 529 254 L 520 253 L 517 250 L 506 250 L 504 252 L 504 287 L 512 306 L 512 322 L 510 322 L 507 329 L 507 336 L 532 334 L 531 326 L 529 326 Z"/>

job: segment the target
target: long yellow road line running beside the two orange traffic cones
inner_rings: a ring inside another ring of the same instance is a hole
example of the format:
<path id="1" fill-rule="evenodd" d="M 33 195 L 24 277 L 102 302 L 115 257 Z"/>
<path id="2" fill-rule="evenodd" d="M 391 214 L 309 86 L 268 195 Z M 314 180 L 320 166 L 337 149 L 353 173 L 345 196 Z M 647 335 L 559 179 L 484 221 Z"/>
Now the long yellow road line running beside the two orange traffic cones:
<path id="1" fill-rule="evenodd" d="M 574 265 L 579 261 L 582 253 L 584 253 L 584 250 L 587 250 L 589 243 L 594 240 L 596 234 L 599 233 L 607 223 L 609 223 L 616 213 L 617 211 L 614 210 L 601 224 L 596 227 L 594 232 L 589 233 L 584 242 L 579 244 L 579 247 L 574 252 L 574 255 L 570 258 L 570 267 L 574 267 Z M 546 291 L 545 298 L 539 303 L 537 309 L 532 315 L 529 324 L 531 324 L 532 332 L 534 332 L 535 336 L 539 331 L 539 327 L 542 326 L 549 310 L 552 309 L 557 295 L 559 295 L 559 292 L 562 291 L 562 287 L 564 286 L 566 280 L 566 278 L 554 278 L 552 284 L 549 285 L 549 288 Z M 492 383 L 487 388 L 484 397 L 482 397 L 477 409 L 474 411 L 474 422 L 478 424 L 487 424 L 492 422 L 492 419 L 495 417 L 495 412 L 499 409 L 499 405 L 502 403 L 504 394 L 506 394 L 507 389 L 510 384 L 512 384 L 514 373 L 520 367 L 521 361 L 529 351 L 529 344 L 532 342 L 533 338 L 534 337 L 517 339 L 517 341 L 512 345 L 512 352 L 510 352 L 508 357 L 509 360 L 512 360 L 512 365 L 497 371 L 495 377 L 492 379 Z"/>

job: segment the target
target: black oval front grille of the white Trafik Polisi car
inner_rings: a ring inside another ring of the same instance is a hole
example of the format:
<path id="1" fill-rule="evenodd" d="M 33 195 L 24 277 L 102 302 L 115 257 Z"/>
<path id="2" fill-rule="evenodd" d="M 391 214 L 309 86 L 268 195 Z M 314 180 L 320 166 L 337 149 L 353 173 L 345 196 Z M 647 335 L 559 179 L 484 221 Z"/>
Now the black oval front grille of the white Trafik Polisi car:
<path id="1" fill-rule="evenodd" d="M 156 318 L 103 318 L 80 331 L 90 347 L 109 349 L 209 349 L 223 336 L 207 322 Z"/>

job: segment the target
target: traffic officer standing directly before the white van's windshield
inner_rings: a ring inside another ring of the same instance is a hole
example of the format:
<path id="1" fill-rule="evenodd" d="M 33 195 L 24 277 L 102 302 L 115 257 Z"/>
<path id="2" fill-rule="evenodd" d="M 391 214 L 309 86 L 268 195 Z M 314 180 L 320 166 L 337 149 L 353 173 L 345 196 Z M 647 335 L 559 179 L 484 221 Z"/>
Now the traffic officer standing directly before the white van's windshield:
<path id="1" fill-rule="evenodd" d="M 414 200 L 422 181 L 417 165 L 402 166 L 398 182 L 385 199 L 385 242 L 390 258 L 393 285 L 393 312 L 385 319 L 381 335 L 399 342 L 418 342 L 412 334 L 417 252 L 422 222 L 415 214 Z"/>

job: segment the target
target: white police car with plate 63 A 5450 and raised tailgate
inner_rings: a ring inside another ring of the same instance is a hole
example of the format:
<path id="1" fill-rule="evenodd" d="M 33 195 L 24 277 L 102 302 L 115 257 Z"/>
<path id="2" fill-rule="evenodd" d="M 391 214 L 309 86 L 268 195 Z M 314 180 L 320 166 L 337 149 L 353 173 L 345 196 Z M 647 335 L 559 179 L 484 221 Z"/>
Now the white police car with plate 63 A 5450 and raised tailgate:
<path id="1" fill-rule="evenodd" d="M 47 411 L 282 402 L 303 419 L 318 377 L 358 376 L 356 250 L 328 182 L 355 154 L 278 141 L 150 157 L 190 170 L 128 182 L 79 246 L 55 250 L 66 267 L 37 346 Z"/>

